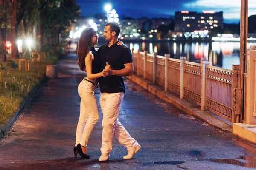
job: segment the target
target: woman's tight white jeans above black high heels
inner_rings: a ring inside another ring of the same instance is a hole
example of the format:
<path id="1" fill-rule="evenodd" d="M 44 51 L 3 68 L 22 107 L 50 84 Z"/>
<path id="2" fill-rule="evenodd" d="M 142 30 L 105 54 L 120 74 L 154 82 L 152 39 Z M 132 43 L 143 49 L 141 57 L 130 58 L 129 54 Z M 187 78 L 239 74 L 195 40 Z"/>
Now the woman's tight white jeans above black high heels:
<path id="1" fill-rule="evenodd" d="M 94 97 L 95 86 L 83 79 L 77 91 L 81 97 L 80 116 L 76 128 L 76 145 L 87 146 L 93 127 L 99 119 L 98 108 Z M 75 145 L 75 146 L 76 146 Z"/>

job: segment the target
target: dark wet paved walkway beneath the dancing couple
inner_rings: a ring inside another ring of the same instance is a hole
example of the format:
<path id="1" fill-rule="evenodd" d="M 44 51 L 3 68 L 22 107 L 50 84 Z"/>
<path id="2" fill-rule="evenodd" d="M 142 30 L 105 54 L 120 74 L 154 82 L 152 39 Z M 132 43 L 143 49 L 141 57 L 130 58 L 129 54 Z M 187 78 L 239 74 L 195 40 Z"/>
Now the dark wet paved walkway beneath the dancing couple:
<path id="1" fill-rule="evenodd" d="M 90 136 L 88 160 L 73 158 L 84 78 L 76 54 L 61 57 L 58 79 L 43 82 L 41 93 L 0 141 L 0 170 L 249 170 L 256 169 L 256 146 L 187 115 L 125 79 L 119 120 L 141 145 L 133 159 L 114 139 L 110 160 L 99 162 L 102 111 Z"/>

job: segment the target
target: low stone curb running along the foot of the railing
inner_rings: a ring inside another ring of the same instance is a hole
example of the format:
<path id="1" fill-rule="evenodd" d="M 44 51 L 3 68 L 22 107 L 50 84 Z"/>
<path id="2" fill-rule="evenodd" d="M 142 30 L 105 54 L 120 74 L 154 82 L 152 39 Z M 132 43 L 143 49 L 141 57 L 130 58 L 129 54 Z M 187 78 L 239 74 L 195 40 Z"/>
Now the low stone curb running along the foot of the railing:
<path id="1" fill-rule="evenodd" d="M 132 75 L 126 78 L 145 88 L 147 91 L 151 92 L 158 98 L 163 99 L 166 102 L 172 103 L 185 113 L 196 116 L 199 119 L 202 119 L 204 122 L 207 122 L 210 125 L 217 127 L 221 130 L 232 132 L 231 125 L 228 125 L 220 119 L 217 119 L 215 116 L 212 116 L 207 111 L 201 111 L 197 105 L 188 102 L 186 99 L 180 99 L 171 92 L 164 91 L 163 87 L 161 87 L 160 85 L 154 85 L 150 80 L 143 79 L 142 76 Z"/>

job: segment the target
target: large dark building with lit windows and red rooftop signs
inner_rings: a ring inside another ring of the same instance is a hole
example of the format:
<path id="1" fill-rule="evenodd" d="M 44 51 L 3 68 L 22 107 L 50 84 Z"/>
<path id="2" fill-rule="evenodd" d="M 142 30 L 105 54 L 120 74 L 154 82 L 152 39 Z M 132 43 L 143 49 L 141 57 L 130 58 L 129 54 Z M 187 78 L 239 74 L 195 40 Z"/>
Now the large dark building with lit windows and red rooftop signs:
<path id="1" fill-rule="evenodd" d="M 223 12 L 203 11 L 202 13 L 175 12 L 176 32 L 208 31 L 214 28 L 223 29 Z"/>

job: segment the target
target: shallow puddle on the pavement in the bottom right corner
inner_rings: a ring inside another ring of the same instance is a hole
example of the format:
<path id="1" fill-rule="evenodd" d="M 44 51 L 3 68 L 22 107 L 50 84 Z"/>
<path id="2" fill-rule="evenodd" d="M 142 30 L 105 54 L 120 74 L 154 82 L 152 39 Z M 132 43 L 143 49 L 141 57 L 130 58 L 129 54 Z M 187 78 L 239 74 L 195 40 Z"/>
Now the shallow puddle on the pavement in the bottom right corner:
<path id="1" fill-rule="evenodd" d="M 212 162 L 256 168 L 256 156 L 239 156 L 237 159 L 212 159 Z"/>

